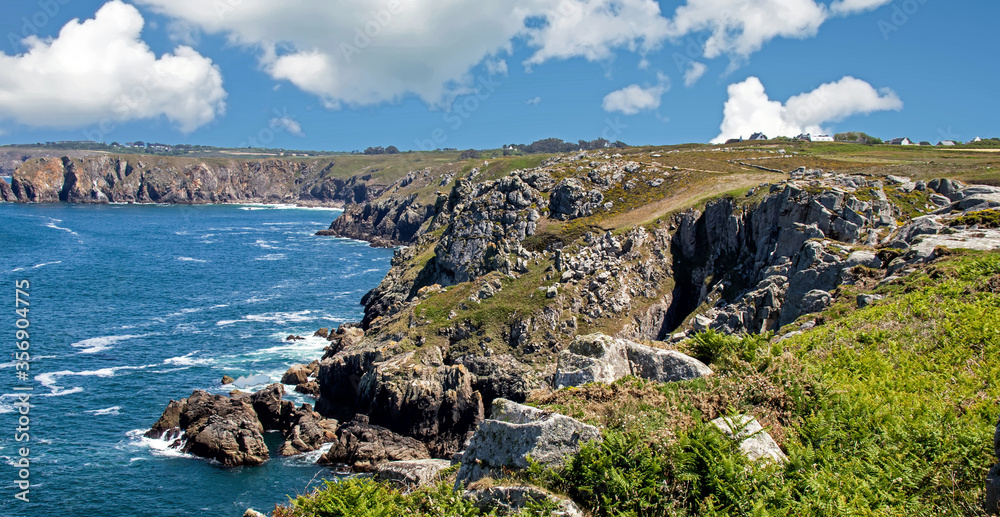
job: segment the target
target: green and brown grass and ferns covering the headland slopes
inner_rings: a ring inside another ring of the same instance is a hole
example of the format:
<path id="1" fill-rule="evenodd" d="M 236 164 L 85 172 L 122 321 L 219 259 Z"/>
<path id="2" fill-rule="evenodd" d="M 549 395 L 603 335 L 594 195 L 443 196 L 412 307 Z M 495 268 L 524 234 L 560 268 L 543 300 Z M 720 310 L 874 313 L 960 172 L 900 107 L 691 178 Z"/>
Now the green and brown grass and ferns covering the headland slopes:
<path id="1" fill-rule="evenodd" d="M 782 170 L 806 166 L 973 182 L 991 181 L 991 164 L 1000 158 L 936 148 L 780 145 L 800 153 L 780 159 L 783 166 L 774 168 Z M 729 160 L 764 157 L 776 146 L 763 152 L 712 148 L 629 150 L 626 158 L 644 164 L 655 160 L 676 181 L 665 183 L 660 193 L 622 191 L 624 210 L 575 224 L 552 223 L 543 231 L 572 244 L 580 228 L 622 230 L 775 178 Z M 506 174 L 513 162 L 490 160 L 483 175 Z M 559 177 L 574 171 L 553 172 Z M 544 301 L 530 294 L 554 281 L 543 273 L 547 265 L 533 267 L 521 279 L 505 279 L 496 298 L 465 303 L 460 319 L 496 321 L 517 317 L 519 309 L 537 309 Z M 448 312 L 486 280 L 426 297 L 417 308 L 424 322 L 417 329 L 434 335 L 432 330 L 447 325 Z M 818 323 L 815 328 L 780 342 L 769 336 L 706 334 L 683 345 L 711 362 L 712 377 L 667 385 L 625 379 L 537 396 L 532 404 L 602 426 L 605 441 L 585 448 L 559 471 L 531 471 L 520 480 L 568 494 L 593 515 L 982 514 L 983 479 L 995 461 L 992 436 L 1000 399 L 995 382 L 1000 374 L 1000 253 L 952 254 L 875 288 L 887 298 L 858 310 L 856 295 L 868 284 L 874 282 L 842 288 L 837 304 L 809 317 Z M 750 465 L 707 424 L 733 413 L 760 420 L 789 463 Z M 376 501 L 368 510 L 351 513 L 331 506 L 331 500 L 357 498 L 359 491 Z M 399 508 L 407 515 L 478 515 L 445 485 L 409 496 L 363 482 L 331 485 L 295 506 L 276 515 L 394 515 Z"/>

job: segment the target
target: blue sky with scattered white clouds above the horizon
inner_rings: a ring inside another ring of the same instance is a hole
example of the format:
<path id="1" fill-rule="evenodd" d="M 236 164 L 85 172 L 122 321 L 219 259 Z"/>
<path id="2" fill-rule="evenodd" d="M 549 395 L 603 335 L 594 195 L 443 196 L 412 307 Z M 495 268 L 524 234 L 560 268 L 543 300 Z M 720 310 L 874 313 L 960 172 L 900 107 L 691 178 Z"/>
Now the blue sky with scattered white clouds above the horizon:
<path id="1" fill-rule="evenodd" d="M 3 0 L 0 144 L 1000 136 L 995 0 Z"/>

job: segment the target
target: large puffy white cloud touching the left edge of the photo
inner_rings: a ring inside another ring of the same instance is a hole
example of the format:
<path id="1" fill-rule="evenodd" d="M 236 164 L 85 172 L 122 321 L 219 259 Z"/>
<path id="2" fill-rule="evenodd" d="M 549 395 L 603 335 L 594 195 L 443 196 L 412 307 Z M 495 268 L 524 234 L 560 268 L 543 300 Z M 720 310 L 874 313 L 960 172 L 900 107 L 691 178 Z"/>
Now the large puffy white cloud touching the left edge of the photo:
<path id="1" fill-rule="evenodd" d="M 0 119 L 68 129 L 165 116 L 190 132 L 224 113 L 218 67 L 183 45 L 157 58 L 143 24 L 113 0 L 54 39 L 26 38 L 23 54 L 0 53 Z"/>

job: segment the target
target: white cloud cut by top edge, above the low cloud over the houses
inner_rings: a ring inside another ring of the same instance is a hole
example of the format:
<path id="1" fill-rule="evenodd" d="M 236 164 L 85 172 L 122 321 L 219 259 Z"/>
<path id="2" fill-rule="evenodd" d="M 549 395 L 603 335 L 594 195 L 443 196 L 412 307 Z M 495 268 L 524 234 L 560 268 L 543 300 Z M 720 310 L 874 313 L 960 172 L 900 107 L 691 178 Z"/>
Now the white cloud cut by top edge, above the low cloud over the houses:
<path id="1" fill-rule="evenodd" d="M 745 58 L 777 37 L 815 36 L 827 16 L 813 0 L 688 0 L 677 8 L 670 34 L 680 38 L 709 31 L 705 57 Z"/>

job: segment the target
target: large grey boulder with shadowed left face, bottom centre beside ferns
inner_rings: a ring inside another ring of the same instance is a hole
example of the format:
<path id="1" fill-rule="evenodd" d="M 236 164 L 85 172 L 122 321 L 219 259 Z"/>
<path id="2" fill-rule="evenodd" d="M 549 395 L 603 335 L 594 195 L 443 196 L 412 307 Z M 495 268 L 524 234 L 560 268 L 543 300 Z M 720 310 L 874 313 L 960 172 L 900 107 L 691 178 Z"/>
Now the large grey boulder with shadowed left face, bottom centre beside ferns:
<path id="1" fill-rule="evenodd" d="M 561 465 L 584 443 L 599 440 L 600 431 L 565 415 L 493 401 L 492 417 L 476 429 L 462 455 L 456 490 L 485 476 L 528 467 L 527 457 L 548 466 Z"/>

